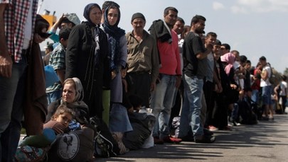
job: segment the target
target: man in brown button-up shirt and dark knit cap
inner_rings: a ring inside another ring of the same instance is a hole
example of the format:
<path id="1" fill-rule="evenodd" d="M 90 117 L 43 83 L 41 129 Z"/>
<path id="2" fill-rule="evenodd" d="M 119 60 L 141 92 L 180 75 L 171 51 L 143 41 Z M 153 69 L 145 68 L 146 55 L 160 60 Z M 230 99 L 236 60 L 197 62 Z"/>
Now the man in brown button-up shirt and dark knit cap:
<path id="1" fill-rule="evenodd" d="M 155 90 L 159 74 L 158 50 L 154 37 L 144 30 L 144 15 L 134 13 L 131 23 L 133 30 L 126 34 L 128 93 L 142 98 L 142 106 L 149 108 L 150 91 Z"/>

